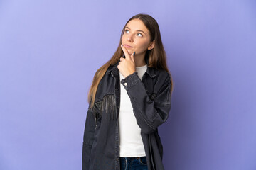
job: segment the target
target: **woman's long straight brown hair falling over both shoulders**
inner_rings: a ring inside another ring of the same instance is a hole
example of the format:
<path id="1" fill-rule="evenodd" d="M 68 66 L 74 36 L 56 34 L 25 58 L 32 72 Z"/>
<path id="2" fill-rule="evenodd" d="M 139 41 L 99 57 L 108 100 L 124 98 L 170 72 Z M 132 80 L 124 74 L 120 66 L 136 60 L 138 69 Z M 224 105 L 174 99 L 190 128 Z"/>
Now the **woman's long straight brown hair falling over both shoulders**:
<path id="1" fill-rule="evenodd" d="M 155 69 L 163 69 L 166 72 L 169 72 L 169 69 L 166 64 L 166 52 L 164 50 L 164 46 L 161 41 L 161 35 L 160 35 L 158 23 L 153 17 L 149 16 L 148 14 L 142 14 L 142 13 L 132 16 L 132 18 L 130 18 L 127 21 L 127 23 L 129 23 L 129 21 L 135 18 L 140 19 L 144 23 L 146 28 L 149 30 L 149 33 L 151 35 L 151 42 L 155 40 L 154 48 L 152 50 L 146 51 L 146 55 L 145 55 L 146 64 L 148 65 L 148 67 L 154 67 Z M 125 26 L 127 26 L 127 23 L 125 24 Z M 92 85 L 90 86 L 90 90 L 87 96 L 88 97 L 87 100 L 90 106 L 89 109 L 91 109 L 95 103 L 95 94 L 97 91 L 97 86 L 99 85 L 102 77 L 105 75 L 105 72 L 107 71 L 108 67 L 110 67 L 110 65 L 116 64 L 120 60 L 120 57 L 124 55 L 124 52 L 120 47 L 122 43 L 122 35 L 124 34 L 124 28 L 122 29 L 121 38 L 120 38 L 119 45 L 117 47 L 116 52 L 114 52 L 114 55 L 106 64 L 102 65 L 100 69 L 97 69 L 95 76 L 93 77 Z M 171 74 L 170 74 L 170 77 L 171 77 Z M 173 81 L 171 78 L 171 93 L 173 91 L 172 82 Z"/>

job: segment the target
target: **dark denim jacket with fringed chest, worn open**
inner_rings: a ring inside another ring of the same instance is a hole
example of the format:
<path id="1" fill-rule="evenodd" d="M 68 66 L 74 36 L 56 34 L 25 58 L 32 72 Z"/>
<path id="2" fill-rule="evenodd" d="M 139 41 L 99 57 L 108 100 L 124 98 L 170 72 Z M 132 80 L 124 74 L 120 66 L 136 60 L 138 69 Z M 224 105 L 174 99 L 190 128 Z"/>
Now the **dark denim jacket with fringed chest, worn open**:
<path id="1" fill-rule="evenodd" d="M 82 170 L 119 170 L 119 62 L 107 69 L 97 87 L 95 105 L 87 111 L 82 146 Z M 162 170 L 163 147 L 158 127 L 171 110 L 171 77 L 147 67 L 142 80 L 137 72 L 121 81 L 132 102 L 149 170 Z"/>

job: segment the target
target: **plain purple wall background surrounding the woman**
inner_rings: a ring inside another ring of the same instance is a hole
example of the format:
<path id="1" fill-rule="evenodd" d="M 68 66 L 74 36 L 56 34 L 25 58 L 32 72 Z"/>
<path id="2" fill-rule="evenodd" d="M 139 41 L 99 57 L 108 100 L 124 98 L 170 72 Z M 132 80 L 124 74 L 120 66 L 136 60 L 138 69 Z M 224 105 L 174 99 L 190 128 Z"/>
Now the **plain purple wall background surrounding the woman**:
<path id="1" fill-rule="evenodd" d="M 87 92 L 126 21 L 159 23 L 175 170 L 256 169 L 255 1 L 0 1 L 0 169 L 81 169 Z"/>

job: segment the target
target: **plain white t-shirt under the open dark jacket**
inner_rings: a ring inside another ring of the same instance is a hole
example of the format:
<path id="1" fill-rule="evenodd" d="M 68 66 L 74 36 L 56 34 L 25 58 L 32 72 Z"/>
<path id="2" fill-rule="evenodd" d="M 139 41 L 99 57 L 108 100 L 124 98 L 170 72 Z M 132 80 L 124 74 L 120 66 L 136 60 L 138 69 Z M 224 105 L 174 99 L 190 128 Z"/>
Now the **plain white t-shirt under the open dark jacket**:
<path id="1" fill-rule="evenodd" d="M 136 67 L 139 78 L 146 72 L 147 65 Z M 124 76 L 119 72 L 120 81 Z M 141 128 L 137 124 L 133 113 L 132 103 L 127 90 L 120 84 L 120 110 L 119 110 L 119 132 L 120 132 L 120 155 L 119 157 L 144 157 L 146 156 L 142 142 Z"/>

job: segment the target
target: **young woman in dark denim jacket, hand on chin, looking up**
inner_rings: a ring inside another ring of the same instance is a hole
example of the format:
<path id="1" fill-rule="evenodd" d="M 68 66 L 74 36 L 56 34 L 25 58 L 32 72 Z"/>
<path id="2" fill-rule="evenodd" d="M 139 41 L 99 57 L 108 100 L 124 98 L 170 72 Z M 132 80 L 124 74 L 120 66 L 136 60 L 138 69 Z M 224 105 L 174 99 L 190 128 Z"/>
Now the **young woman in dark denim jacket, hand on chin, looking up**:
<path id="1" fill-rule="evenodd" d="M 172 79 L 158 23 L 137 14 L 88 94 L 82 170 L 161 170 L 158 127 L 171 109 Z"/>

